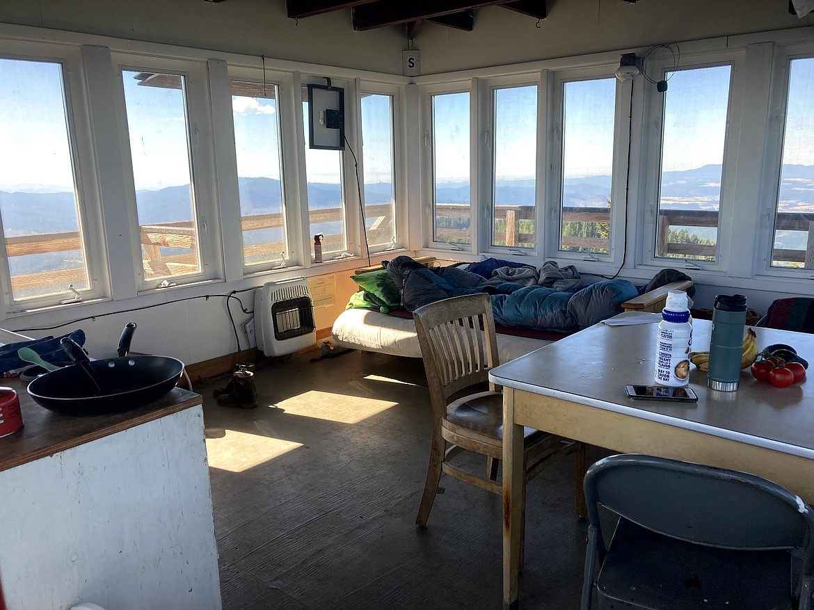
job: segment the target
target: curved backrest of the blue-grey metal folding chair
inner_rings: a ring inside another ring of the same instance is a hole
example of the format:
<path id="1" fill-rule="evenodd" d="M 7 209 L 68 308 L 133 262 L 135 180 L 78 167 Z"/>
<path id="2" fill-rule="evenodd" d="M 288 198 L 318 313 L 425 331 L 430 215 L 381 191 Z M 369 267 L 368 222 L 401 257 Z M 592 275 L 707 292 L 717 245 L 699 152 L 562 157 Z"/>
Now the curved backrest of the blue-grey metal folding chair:
<path id="1" fill-rule="evenodd" d="M 710 547 L 804 549 L 814 515 L 799 496 L 762 477 L 650 455 L 612 455 L 584 479 L 591 524 L 597 503 L 660 534 Z"/>

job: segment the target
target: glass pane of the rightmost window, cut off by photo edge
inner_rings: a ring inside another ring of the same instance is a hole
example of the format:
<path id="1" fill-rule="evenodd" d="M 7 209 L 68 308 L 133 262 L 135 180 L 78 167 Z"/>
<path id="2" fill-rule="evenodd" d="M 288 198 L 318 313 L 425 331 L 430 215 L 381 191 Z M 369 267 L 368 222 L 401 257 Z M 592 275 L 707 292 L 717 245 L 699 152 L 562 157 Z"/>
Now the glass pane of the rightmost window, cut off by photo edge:
<path id="1" fill-rule="evenodd" d="M 814 58 L 793 59 L 772 265 L 814 268 Z"/>

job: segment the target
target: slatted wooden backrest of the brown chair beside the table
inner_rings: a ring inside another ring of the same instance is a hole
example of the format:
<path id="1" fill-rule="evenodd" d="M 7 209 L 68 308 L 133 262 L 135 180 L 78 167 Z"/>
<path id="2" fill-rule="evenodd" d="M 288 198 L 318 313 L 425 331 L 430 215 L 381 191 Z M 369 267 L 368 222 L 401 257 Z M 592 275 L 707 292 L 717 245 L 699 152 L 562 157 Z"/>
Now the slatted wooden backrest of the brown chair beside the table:
<path id="1" fill-rule="evenodd" d="M 436 393 L 445 406 L 453 394 L 488 381 L 489 370 L 499 364 L 488 294 L 445 298 L 418 307 L 413 318 L 433 408 Z"/>

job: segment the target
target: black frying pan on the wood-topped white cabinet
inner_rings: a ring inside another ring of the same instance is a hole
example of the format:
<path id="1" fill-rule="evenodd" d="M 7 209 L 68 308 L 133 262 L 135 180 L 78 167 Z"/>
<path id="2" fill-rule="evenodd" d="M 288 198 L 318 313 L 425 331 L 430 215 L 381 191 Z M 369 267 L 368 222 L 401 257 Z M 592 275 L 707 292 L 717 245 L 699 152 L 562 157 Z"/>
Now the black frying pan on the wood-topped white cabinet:
<path id="1" fill-rule="evenodd" d="M 129 337 L 133 328 L 134 325 L 125 327 Z M 80 346 L 68 341 L 72 345 L 63 345 L 63 350 L 77 365 L 46 373 L 28 384 L 28 394 L 37 403 L 65 415 L 103 415 L 138 407 L 172 390 L 184 369 L 181 360 L 168 356 L 135 355 L 90 361 Z"/>

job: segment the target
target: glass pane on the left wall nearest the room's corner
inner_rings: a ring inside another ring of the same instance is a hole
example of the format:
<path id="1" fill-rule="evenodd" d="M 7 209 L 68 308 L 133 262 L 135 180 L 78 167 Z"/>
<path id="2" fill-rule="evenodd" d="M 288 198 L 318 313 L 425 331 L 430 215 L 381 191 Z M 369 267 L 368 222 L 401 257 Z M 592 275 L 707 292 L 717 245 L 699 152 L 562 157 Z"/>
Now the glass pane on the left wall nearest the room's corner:
<path id="1" fill-rule="evenodd" d="M 396 245 L 393 193 L 393 98 L 361 98 L 362 159 L 365 166 L 365 229 L 368 246 Z"/>

